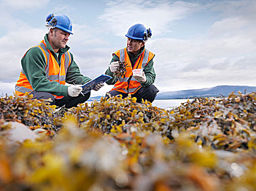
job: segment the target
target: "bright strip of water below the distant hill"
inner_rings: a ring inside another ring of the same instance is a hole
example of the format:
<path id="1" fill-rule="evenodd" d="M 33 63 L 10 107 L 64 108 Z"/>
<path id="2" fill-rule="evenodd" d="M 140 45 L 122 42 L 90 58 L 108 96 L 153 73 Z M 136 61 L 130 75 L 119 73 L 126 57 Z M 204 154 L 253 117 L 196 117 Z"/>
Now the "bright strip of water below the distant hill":
<path id="1" fill-rule="evenodd" d="M 187 99 L 156 99 L 153 101 L 152 106 L 157 106 L 157 108 L 163 109 L 172 109 L 185 102 L 187 102 Z"/>

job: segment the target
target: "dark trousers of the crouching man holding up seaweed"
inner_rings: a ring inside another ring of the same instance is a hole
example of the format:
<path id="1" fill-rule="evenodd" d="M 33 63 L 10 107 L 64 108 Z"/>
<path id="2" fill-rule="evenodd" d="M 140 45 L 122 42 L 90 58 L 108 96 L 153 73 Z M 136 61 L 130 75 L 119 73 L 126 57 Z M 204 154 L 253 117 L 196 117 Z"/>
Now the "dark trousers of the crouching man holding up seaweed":
<path id="1" fill-rule="evenodd" d="M 133 97 L 136 97 L 137 100 L 136 102 L 137 103 L 141 103 L 142 100 L 141 99 L 144 99 L 145 100 L 148 100 L 149 102 L 153 102 L 153 100 L 155 100 L 156 98 L 156 94 L 157 92 L 159 92 L 159 90 L 156 88 L 156 86 L 154 85 L 149 85 L 147 87 L 141 87 L 136 93 L 132 94 L 132 98 Z M 116 90 L 112 90 L 110 92 L 111 96 L 117 96 L 117 95 L 122 95 L 123 98 L 126 98 L 128 96 L 128 93 L 122 93 L 122 92 L 118 92 Z M 106 97 L 109 97 L 106 95 Z"/>

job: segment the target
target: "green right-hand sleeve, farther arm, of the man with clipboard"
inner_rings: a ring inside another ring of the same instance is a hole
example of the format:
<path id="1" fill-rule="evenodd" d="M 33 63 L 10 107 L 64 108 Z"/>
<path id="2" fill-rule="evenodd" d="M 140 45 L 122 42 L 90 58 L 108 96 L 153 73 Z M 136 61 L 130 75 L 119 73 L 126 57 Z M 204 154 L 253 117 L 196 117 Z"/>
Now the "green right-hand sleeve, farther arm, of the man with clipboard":
<path id="1" fill-rule="evenodd" d="M 89 77 L 81 74 L 78 65 L 73 59 L 72 53 L 70 53 L 70 55 L 71 55 L 71 63 L 69 65 L 69 68 L 67 68 L 66 82 L 70 84 L 72 84 L 72 82 L 75 82 L 76 84 L 84 84 L 92 80 Z"/>

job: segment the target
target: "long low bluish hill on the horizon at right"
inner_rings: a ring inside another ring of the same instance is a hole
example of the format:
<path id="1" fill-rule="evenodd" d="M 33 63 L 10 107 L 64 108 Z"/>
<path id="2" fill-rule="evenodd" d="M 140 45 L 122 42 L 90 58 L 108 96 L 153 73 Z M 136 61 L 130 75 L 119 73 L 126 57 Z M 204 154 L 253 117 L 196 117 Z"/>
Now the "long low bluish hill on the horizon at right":
<path id="1" fill-rule="evenodd" d="M 194 97 L 218 97 L 221 95 L 228 96 L 230 92 L 244 91 L 255 92 L 254 86 L 216 86 L 202 89 L 188 89 L 173 92 L 158 93 L 156 99 L 188 99 Z"/>

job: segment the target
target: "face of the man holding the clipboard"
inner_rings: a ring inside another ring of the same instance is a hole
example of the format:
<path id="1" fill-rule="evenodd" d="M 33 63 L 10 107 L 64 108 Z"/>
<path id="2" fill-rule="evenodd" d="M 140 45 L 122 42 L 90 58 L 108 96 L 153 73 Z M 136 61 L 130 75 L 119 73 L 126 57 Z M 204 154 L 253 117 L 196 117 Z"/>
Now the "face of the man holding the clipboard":
<path id="1" fill-rule="evenodd" d="M 57 29 L 54 30 L 51 35 L 53 35 L 53 49 L 63 49 L 66 46 L 67 41 L 69 40 L 70 33 L 62 31 L 61 29 Z"/>

